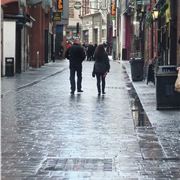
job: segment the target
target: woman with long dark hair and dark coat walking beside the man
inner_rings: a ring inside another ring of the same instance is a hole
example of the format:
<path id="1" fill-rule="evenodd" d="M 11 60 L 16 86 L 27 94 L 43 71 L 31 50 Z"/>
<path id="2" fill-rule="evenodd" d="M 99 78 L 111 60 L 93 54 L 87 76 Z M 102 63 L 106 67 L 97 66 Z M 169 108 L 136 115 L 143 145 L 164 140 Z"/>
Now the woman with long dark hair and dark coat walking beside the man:
<path id="1" fill-rule="evenodd" d="M 93 72 L 92 76 L 97 79 L 97 90 L 98 90 L 98 95 L 105 94 L 105 78 L 107 73 L 110 70 L 110 64 L 109 64 L 109 58 L 108 55 L 104 49 L 103 44 L 97 46 L 95 53 L 94 53 L 94 67 L 93 67 Z M 101 83 L 102 83 L 102 89 L 101 89 Z M 102 91 L 101 91 L 102 90 Z"/>

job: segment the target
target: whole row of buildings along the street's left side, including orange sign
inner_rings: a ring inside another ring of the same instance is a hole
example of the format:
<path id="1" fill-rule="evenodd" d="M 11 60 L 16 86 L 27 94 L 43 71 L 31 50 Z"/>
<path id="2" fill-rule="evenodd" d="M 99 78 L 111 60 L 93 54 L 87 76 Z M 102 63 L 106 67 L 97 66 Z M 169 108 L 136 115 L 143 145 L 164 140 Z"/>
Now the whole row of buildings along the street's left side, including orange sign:
<path id="1" fill-rule="evenodd" d="M 6 75 L 7 60 L 13 60 L 14 74 L 63 56 L 60 50 L 66 42 L 68 0 L 2 0 L 1 12 L 2 76 Z"/>

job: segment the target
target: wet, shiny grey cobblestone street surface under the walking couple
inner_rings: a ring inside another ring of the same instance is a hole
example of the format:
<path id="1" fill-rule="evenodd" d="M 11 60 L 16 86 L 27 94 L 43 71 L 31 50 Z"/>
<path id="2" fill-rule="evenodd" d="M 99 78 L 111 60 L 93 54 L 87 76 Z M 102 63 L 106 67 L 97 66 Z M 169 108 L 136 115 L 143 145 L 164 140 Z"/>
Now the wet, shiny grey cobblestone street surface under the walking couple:
<path id="1" fill-rule="evenodd" d="M 154 122 L 136 126 L 121 64 L 111 62 L 100 97 L 93 63 L 83 65 L 84 92 L 74 96 L 67 61 L 36 83 L 2 87 L 2 180 L 180 179 L 178 133 L 168 144 Z"/>

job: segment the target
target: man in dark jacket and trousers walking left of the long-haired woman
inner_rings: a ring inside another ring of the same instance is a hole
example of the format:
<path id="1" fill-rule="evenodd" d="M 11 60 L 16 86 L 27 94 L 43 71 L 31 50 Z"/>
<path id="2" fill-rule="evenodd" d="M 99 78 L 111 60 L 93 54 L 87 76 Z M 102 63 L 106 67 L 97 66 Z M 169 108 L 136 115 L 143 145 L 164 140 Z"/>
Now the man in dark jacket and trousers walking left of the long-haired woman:
<path id="1" fill-rule="evenodd" d="M 71 94 L 73 95 L 76 90 L 75 73 L 77 73 L 77 91 L 83 92 L 81 88 L 82 62 L 84 61 L 86 55 L 79 40 L 76 39 L 74 44 L 68 48 L 65 57 L 69 59 Z"/>

